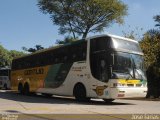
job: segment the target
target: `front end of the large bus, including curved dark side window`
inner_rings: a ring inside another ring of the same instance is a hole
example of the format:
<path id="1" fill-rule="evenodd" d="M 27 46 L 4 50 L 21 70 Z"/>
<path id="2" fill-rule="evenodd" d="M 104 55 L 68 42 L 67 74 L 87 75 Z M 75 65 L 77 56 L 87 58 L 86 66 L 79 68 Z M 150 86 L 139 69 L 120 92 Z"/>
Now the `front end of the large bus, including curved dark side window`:
<path id="1" fill-rule="evenodd" d="M 145 97 L 147 80 L 137 41 L 113 35 L 92 38 L 90 68 L 93 78 L 98 80 L 95 91 L 99 98 L 107 101 Z"/>

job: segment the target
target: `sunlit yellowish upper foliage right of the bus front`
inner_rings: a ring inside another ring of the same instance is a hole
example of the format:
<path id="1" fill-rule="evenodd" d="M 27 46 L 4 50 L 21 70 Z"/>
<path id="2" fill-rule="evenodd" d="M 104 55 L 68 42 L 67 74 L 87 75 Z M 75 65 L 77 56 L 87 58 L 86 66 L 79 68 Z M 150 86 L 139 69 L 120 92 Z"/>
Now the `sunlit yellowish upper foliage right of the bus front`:
<path id="1" fill-rule="evenodd" d="M 160 31 L 152 29 L 146 32 L 140 45 L 144 53 L 146 68 L 151 65 L 160 67 Z"/>

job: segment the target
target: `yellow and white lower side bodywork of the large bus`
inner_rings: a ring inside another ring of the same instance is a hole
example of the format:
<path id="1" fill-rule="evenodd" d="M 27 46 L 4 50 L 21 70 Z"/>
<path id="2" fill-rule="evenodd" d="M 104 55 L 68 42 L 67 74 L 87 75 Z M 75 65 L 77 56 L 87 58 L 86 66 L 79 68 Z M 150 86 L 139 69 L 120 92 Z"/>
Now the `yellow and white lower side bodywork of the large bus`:
<path id="1" fill-rule="evenodd" d="M 17 90 L 19 83 L 24 85 L 25 82 L 28 82 L 31 92 L 73 96 L 74 86 L 77 83 L 82 83 L 86 88 L 88 97 L 97 97 L 94 89 L 98 80 L 91 78 L 85 61 L 73 63 L 63 83 L 55 88 L 55 83 L 53 82 L 52 84 L 47 83 L 50 86 L 46 85 L 46 78 L 49 77 L 47 75 L 52 66 L 56 65 L 12 71 L 12 89 Z M 40 69 L 44 70 L 42 74 L 37 72 Z M 61 70 L 61 72 L 65 71 Z M 53 81 L 54 79 L 52 78 L 51 80 Z"/>

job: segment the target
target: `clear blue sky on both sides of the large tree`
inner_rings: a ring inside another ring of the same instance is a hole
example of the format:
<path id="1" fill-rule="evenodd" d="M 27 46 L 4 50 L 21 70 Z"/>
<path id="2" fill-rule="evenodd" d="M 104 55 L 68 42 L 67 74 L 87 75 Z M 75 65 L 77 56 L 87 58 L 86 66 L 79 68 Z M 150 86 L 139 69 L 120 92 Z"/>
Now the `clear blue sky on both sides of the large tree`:
<path id="1" fill-rule="evenodd" d="M 160 0 L 121 0 L 128 5 L 128 15 L 124 24 L 113 24 L 102 33 L 123 36 L 123 32 L 136 31 L 143 35 L 156 24 L 153 16 L 160 14 Z M 140 30 L 140 29 L 143 30 Z M 137 30 L 138 29 L 138 30 Z M 22 47 L 42 45 L 53 46 L 57 39 L 66 35 L 58 33 L 58 26 L 53 25 L 50 16 L 43 14 L 37 0 L 0 0 L 0 44 L 8 50 L 22 51 Z"/>

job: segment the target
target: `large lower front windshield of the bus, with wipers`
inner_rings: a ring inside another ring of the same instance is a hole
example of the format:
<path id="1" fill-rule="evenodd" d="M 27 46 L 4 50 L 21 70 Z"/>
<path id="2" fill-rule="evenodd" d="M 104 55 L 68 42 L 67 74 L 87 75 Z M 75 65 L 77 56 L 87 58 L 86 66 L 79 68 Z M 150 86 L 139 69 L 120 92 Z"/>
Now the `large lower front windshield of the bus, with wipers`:
<path id="1" fill-rule="evenodd" d="M 113 78 L 146 80 L 143 56 L 117 52 L 113 59 Z"/>

